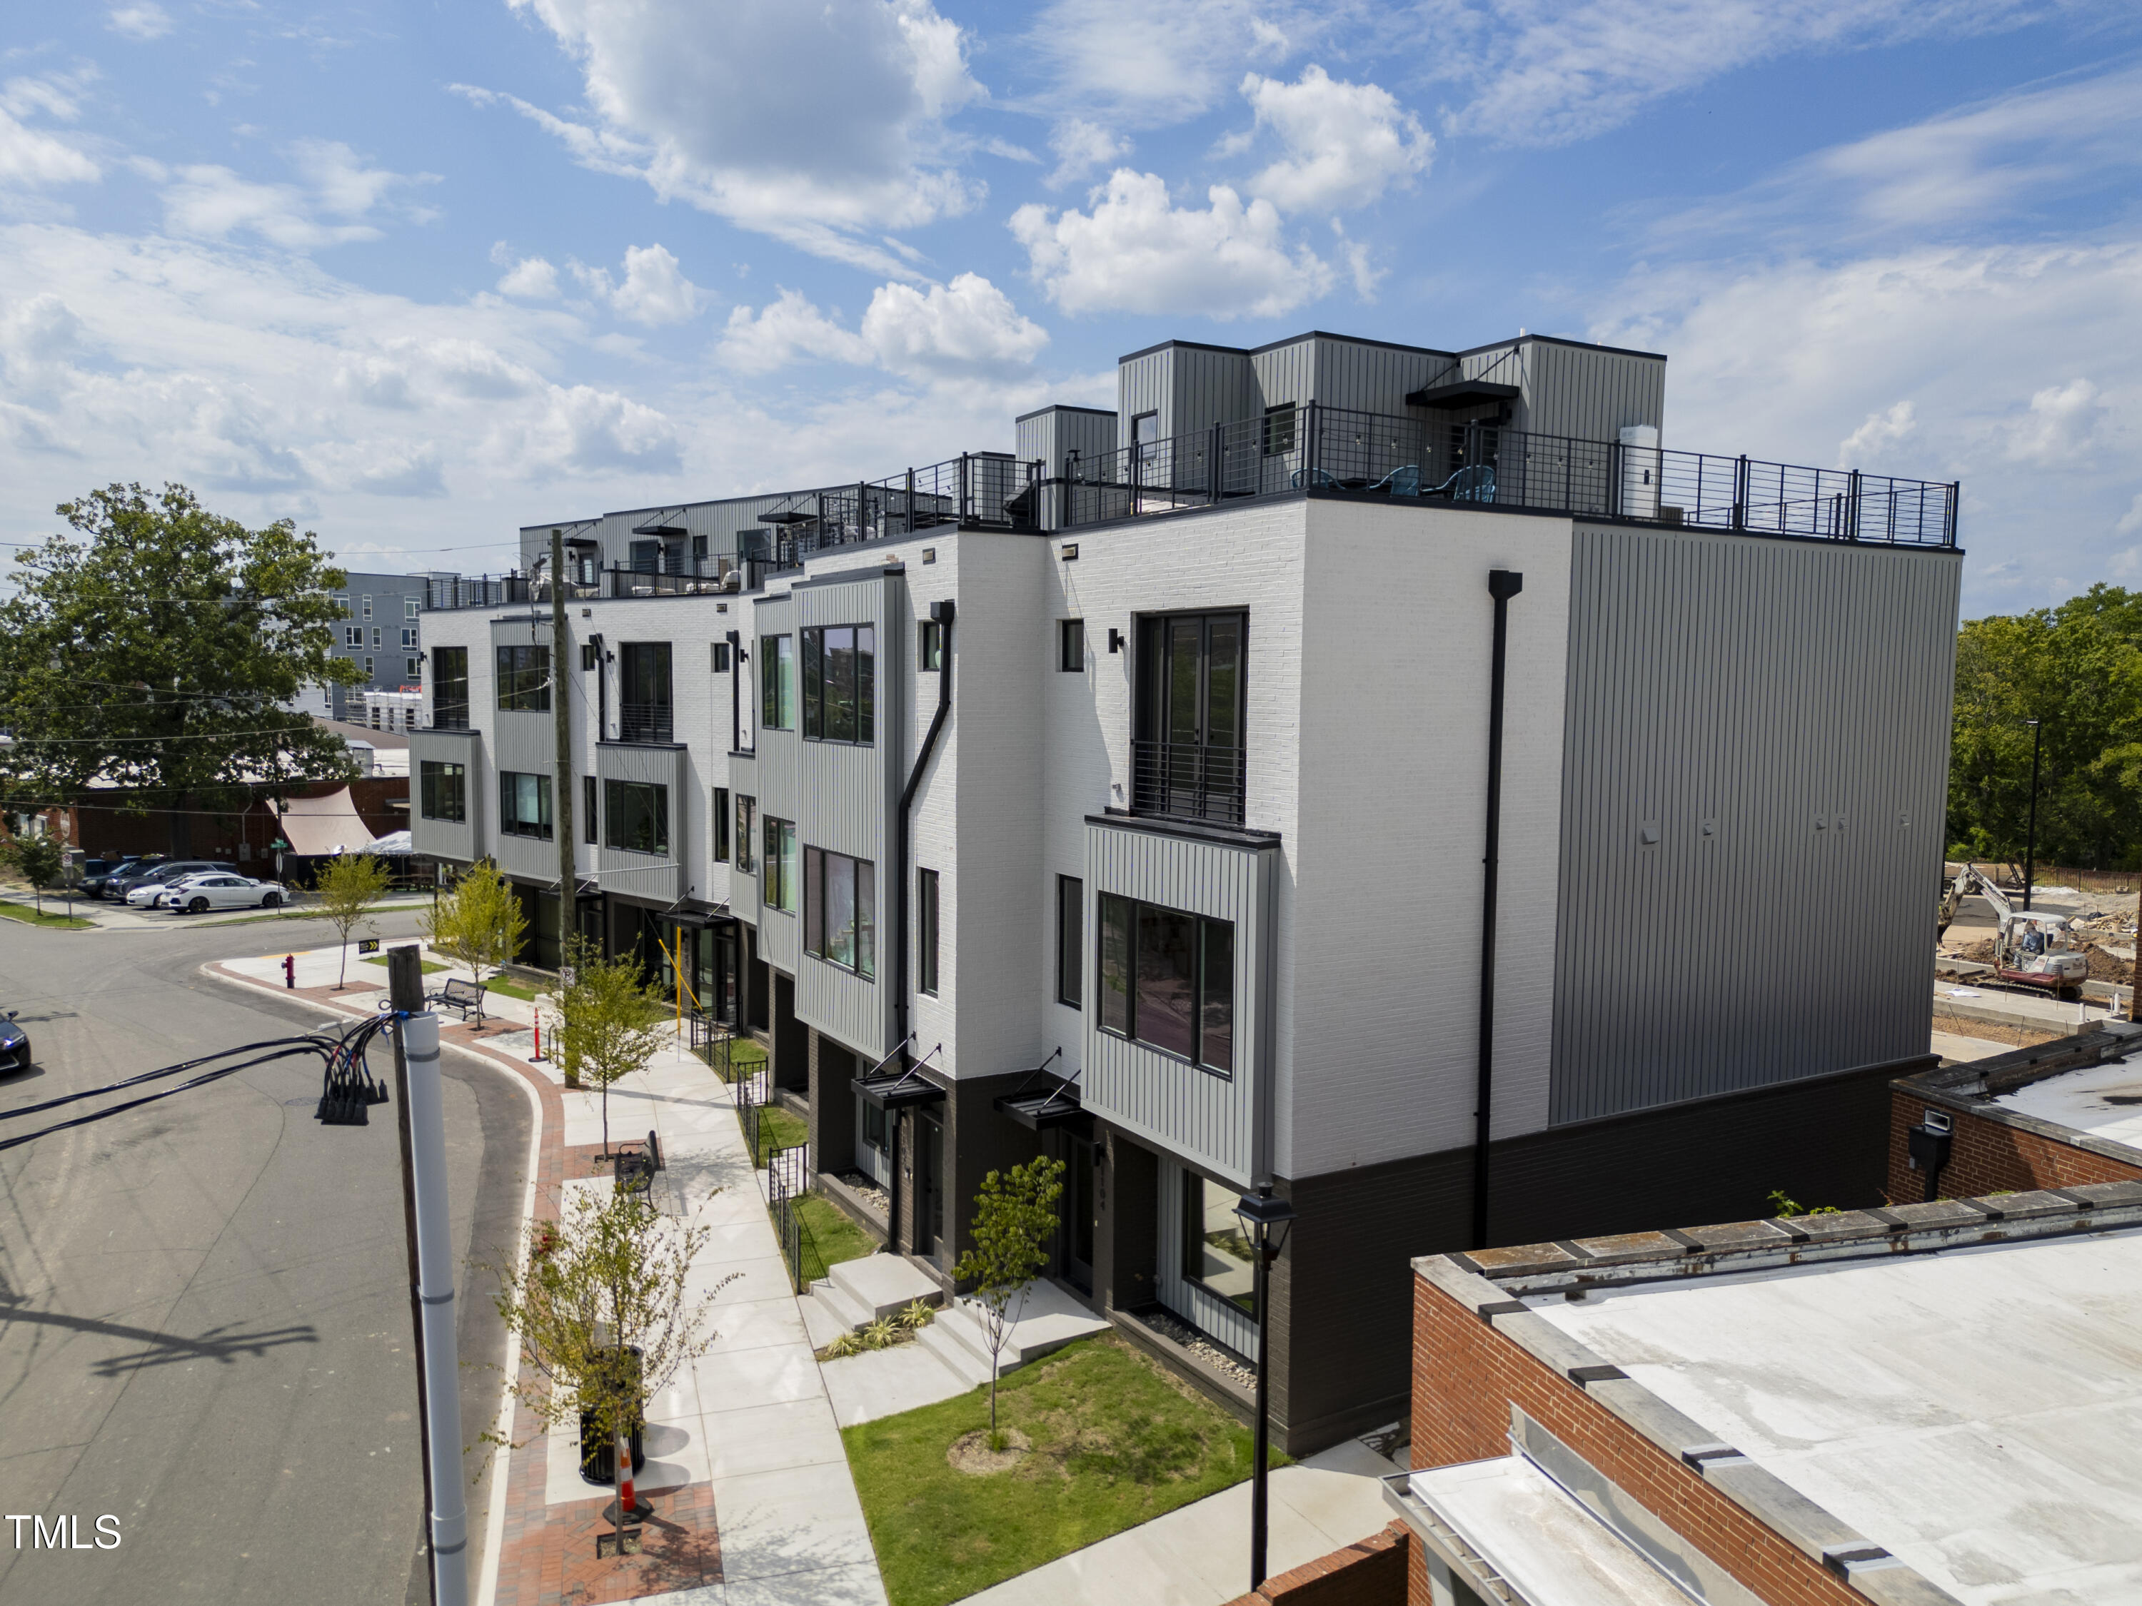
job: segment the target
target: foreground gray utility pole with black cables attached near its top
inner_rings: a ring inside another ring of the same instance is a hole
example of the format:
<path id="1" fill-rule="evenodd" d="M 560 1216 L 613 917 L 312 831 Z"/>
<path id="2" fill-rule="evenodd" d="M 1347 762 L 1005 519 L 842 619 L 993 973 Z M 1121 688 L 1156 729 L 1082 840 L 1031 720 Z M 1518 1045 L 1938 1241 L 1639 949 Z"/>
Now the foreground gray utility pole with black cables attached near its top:
<path id="1" fill-rule="evenodd" d="M 454 1218 L 446 1199 L 446 1103 L 439 1094 L 439 1017 L 424 1009 L 418 946 L 388 953 L 394 1006 L 394 1094 L 403 1152 L 418 1340 L 418 1418 L 424 1424 L 424 1516 L 435 1606 L 469 1604 L 469 1501 L 461 1475 L 461 1347 L 454 1321 Z"/>

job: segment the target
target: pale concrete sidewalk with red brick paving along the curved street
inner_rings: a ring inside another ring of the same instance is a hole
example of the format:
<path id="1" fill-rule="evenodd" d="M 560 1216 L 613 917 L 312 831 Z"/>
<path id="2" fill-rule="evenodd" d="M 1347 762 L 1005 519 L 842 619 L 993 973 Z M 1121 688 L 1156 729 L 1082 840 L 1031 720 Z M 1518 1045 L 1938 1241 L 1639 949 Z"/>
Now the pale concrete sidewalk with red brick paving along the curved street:
<path id="1" fill-rule="evenodd" d="M 336 1011 L 373 1013 L 386 968 L 351 959 L 351 985 L 336 994 L 341 957 L 338 949 L 298 953 L 298 991 Z M 283 991 L 281 953 L 212 968 Z M 441 981 L 426 976 L 428 985 Z M 514 998 L 493 1004 L 497 1026 L 473 1032 L 446 1017 L 441 1041 L 512 1069 L 536 1094 L 544 1120 L 533 1210 L 555 1216 L 574 1191 L 608 1186 L 587 1165 L 602 1143 L 602 1101 L 568 1090 L 550 1064 L 529 1062 L 533 1006 Z M 514 1439 L 529 1441 L 514 1452 L 510 1475 L 471 1495 L 469 1520 L 491 1535 L 478 1602 L 883 1606 L 885 1585 L 833 1405 L 728 1088 L 692 1054 L 664 1051 L 643 1075 L 610 1088 L 610 1137 L 649 1128 L 668 1167 L 660 1178 L 664 1210 L 711 1229 L 688 1287 L 696 1293 L 735 1281 L 718 1293 L 711 1349 L 647 1413 L 638 1488 L 653 1495 L 658 1512 L 647 1559 L 595 1563 L 593 1537 L 604 1527 L 595 1514 L 606 1495 L 578 1478 L 576 1433 L 531 1437 L 533 1422 L 523 1418 Z M 480 1373 L 467 1377 L 473 1385 Z"/>

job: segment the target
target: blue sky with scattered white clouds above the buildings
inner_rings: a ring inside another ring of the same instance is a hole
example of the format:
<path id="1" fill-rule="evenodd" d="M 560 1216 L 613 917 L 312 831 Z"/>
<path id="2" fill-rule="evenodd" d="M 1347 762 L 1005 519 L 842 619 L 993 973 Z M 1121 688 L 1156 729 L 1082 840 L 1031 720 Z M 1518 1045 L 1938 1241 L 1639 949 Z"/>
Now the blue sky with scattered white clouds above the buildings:
<path id="1" fill-rule="evenodd" d="M 2142 13 L 1971 0 L 17 4 L 0 540 L 111 480 L 362 567 L 1011 445 L 1304 328 L 1666 351 L 1666 443 L 2142 585 Z"/>

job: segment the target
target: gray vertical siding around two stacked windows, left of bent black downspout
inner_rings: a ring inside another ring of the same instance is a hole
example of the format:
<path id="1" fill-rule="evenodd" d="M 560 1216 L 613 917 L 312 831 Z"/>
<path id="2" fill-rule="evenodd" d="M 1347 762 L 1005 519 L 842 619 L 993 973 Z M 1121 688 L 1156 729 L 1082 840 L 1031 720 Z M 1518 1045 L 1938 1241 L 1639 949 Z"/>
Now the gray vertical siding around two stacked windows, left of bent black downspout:
<path id="1" fill-rule="evenodd" d="M 865 981 L 808 953 L 797 955 L 797 1019 L 872 1058 L 889 1047 L 893 987 L 891 816 L 906 779 L 900 767 L 910 700 L 910 636 L 906 580 L 872 576 L 850 585 L 810 585 L 793 593 L 797 630 L 805 625 L 874 625 L 876 739 L 870 747 L 797 741 L 797 837 L 876 865 L 878 976 Z M 801 660 L 799 660 L 801 662 Z"/>

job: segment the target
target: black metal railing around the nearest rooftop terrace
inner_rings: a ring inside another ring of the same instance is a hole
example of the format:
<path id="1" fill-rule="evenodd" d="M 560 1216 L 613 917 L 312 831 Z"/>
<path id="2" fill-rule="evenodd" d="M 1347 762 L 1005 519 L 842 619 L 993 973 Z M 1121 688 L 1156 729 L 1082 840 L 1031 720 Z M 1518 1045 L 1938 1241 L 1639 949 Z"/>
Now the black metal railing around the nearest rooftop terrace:
<path id="1" fill-rule="evenodd" d="M 1313 488 L 1896 546 L 1954 546 L 1958 497 L 1954 482 L 1315 403 L 1101 456 L 1073 452 L 1045 484 L 1060 490 L 1065 527 Z"/>

